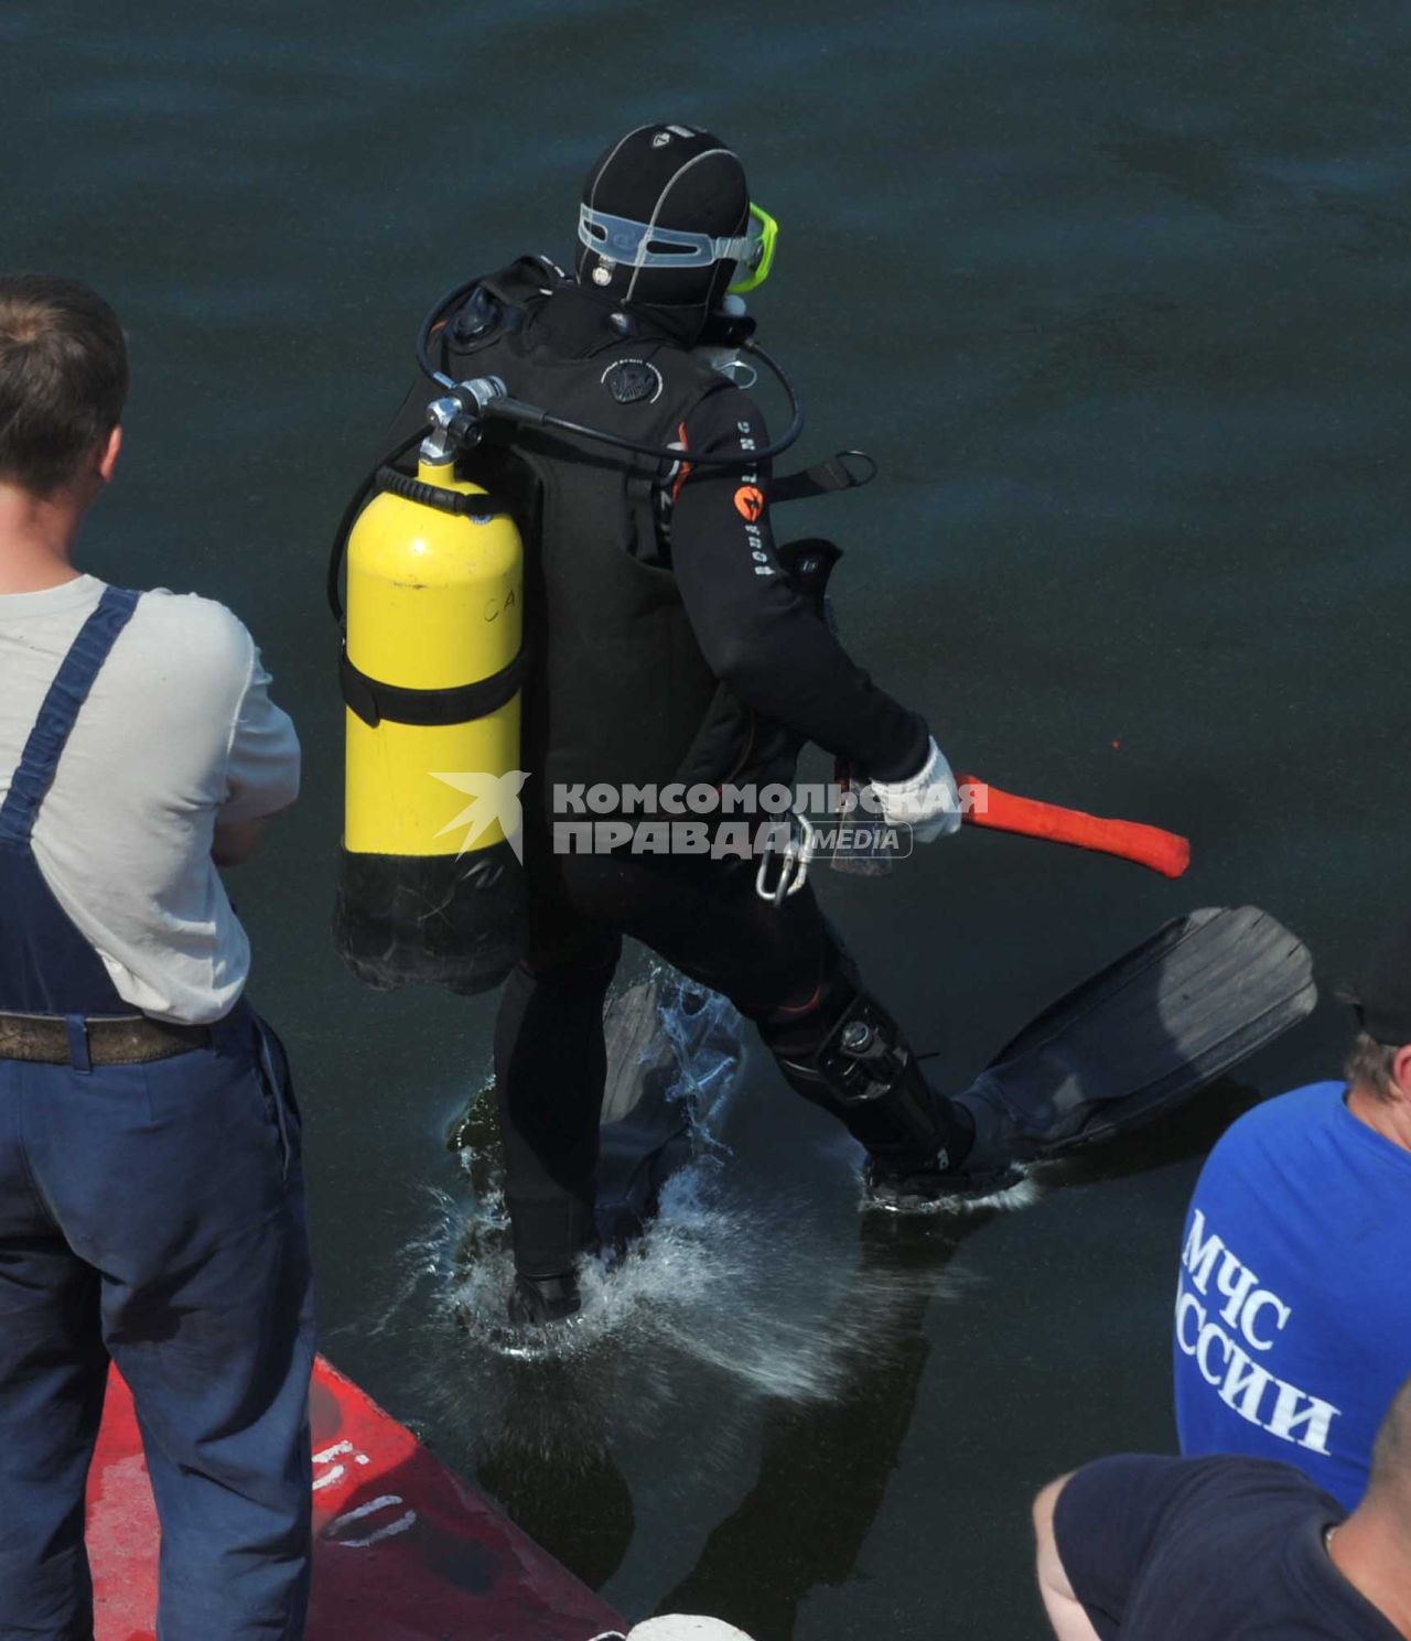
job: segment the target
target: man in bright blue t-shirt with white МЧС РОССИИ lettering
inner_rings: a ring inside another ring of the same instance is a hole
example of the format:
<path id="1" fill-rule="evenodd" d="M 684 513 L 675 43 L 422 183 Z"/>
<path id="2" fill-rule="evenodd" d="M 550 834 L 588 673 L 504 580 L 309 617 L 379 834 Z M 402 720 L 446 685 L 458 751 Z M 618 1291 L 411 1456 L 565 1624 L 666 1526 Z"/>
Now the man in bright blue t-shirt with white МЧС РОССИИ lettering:
<path id="1" fill-rule="evenodd" d="M 1411 1372 L 1411 922 L 1349 1001 L 1347 1081 L 1257 1106 L 1206 1162 L 1175 1385 L 1183 1454 L 1283 1459 L 1350 1510 Z"/>

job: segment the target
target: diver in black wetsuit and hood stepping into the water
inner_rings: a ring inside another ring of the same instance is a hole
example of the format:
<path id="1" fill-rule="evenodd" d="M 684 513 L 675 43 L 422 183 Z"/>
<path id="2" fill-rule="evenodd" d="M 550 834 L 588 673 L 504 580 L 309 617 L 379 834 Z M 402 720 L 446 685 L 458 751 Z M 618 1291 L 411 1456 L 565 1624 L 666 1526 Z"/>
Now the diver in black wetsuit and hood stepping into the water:
<path id="1" fill-rule="evenodd" d="M 806 883 L 765 896 L 760 862 L 715 848 L 563 847 L 564 794 L 581 812 L 594 789 L 791 786 L 806 742 L 870 781 L 889 825 L 920 842 L 960 827 L 927 720 L 824 619 L 817 566 L 835 550 L 771 530 L 774 505 L 809 492 L 807 476 L 776 479 L 789 435 L 771 445 L 747 392 L 763 350 L 740 297 L 768 274 L 774 233 L 719 138 L 643 125 L 587 174 L 573 274 L 522 258 L 423 330 L 440 382 L 541 407 L 487 415 L 466 469 L 514 497 L 525 533 L 527 934 L 494 1042 L 515 1323 L 581 1305 L 623 935 L 755 1022 L 791 1086 L 861 1142 L 884 1206 L 989 1191 L 1071 1145 L 1086 1116 L 1081 1090 L 1053 1099 L 1043 1078 L 937 1093 Z M 425 405 L 420 381 L 392 428 L 404 453 Z"/>

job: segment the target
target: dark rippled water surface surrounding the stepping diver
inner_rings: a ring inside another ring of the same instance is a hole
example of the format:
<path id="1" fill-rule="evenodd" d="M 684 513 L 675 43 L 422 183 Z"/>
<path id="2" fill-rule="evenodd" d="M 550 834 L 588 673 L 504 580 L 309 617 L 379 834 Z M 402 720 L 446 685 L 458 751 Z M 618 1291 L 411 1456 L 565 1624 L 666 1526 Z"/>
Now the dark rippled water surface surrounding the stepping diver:
<path id="1" fill-rule="evenodd" d="M 233 604 L 305 738 L 236 893 L 300 1067 L 328 1352 L 627 1613 L 1037 1634 L 1030 1492 L 1171 1442 L 1175 1242 L 1240 1096 L 1024 1211 L 888 1237 L 755 1060 L 683 1277 L 692 1326 L 728 1319 L 717 1359 L 638 1311 L 581 1374 L 512 1378 L 433 1275 L 376 1329 L 464 1191 L 443 1129 L 492 1008 L 374 998 L 326 939 L 322 560 L 423 307 L 566 253 L 620 128 L 740 146 L 784 226 L 758 312 L 809 448 L 883 463 L 796 520 L 848 546 L 853 647 L 957 763 L 1194 839 L 1175 886 L 978 835 L 825 883 L 961 1078 L 1176 911 L 1257 901 L 1336 978 L 1411 889 L 1408 69 L 1391 0 L 0 3 L 0 264 L 95 282 L 136 359 L 89 563 Z M 1329 1006 L 1247 1081 L 1326 1073 L 1342 1034 Z"/>

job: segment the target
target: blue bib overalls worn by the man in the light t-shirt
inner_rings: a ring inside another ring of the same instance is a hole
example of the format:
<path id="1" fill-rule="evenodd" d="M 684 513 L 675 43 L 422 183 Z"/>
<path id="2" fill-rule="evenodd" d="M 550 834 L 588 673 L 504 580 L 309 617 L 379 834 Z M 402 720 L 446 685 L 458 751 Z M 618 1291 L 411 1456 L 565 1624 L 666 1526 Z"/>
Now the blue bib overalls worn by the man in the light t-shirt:
<path id="1" fill-rule="evenodd" d="M 290 1641 L 308 1590 L 313 1319 L 284 1052 L 241 1004 L 208 1047 L 94 1065 L 133 1016 L 31 848 L 136 592 L 108 587 L 0 806 L 0 1014 L 69 1063 L 0 1058 L 0 1641 L 87 1641 L 84 1483 L 115 1360 L 162 1524 L 162 1641 Z M 95 824 L 102 794 L 94 794 Z"/>

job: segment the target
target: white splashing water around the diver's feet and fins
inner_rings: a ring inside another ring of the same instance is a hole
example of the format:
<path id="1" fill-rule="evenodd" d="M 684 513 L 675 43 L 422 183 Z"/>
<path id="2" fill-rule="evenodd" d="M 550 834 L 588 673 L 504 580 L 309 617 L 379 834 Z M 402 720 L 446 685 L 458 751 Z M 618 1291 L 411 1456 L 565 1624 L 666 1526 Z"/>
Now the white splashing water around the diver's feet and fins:
<path id="1" fill-rule="evenodd" d="M 617 1055 L 609 1113 L 632 1108 L 633 1085 L 640 1099 L 689 1114 L 689 1160 L 663 1185 L 645 1234 L 625 1254 L 582 1262 L 579 1316 L 510 1328 L 502 1163 L 482 1090 L 461 1127 L 468 1193 L 438 1193 L 438 1224 L 407 1250 L 407 1282 L 381 1323 L 392 1326 L 432 1285 L 423 1395 L 481 1452 L 582 1470 L 689 1401 L 709 1408 L 692 1469 L 712 1456 L 728 1464 L 753 1408 L 842 1396 L 901 1331 L 920 1326 L 937 1295 L 963 1288 L 943 1272 L 955 1244 L 994 1208 L 1034 1198 L 1022 1182 L 983 1203 L 937 1204 L 919 1229 L 920 1255 L 863 1247 L 860 1259 L 858 1221 L 837 1213 L 837 1175 L 832 1190 L 781 1193 L 768 1168 L 761 1178 L 732 1165 L 722 1127 L 743 1081 L 743 1044 L 724 998 L 656 968 L 612 999 L 607 1034 Z M 856 1155 L 830 1149 L 829 1165 L 855 1180 Z M 699 1411 L 691 1423 L 702 1428 Z"/>

